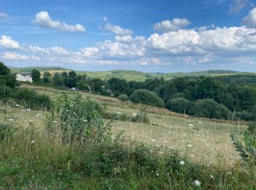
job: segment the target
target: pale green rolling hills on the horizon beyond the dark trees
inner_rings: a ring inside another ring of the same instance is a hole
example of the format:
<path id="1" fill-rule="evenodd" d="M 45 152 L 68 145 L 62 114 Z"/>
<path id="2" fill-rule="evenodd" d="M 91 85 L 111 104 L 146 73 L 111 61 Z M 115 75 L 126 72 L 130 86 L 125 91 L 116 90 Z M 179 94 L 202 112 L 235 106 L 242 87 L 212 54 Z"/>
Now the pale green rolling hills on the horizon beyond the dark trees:
<path id="1" fill-rule="evenodd" d="M 65 69 L 59 66 L 29 66 L 29 67 L 10 67 L 12 72 L 31 72 L 32 69 L 37 69 L 41 73 L 48 71 L 52 75 L 55 72 L 69 72 L 70 69 Z M 249 73 L 249 72 L 237 72 L 232 70 L 220 70 L 220 69 L 211 69 L 208 71 L 198 71 L 198 72 L 173 72 L 173 73 L 162 73 L 162 72 L 140 72 L 134 70 L 110 70 L 110 71 L 102 71 L 102 72 L 89 72 L 89 71 L 75 71 L 78 75 L 87 75 L 89 78 L 100 78 L 102 80 L 108 80 L 111 77 L 118 77 L 121 79 L 126 79 L 127 81 L 130 80 L 137 80 L 137 81 L 144 81 L 148 78 L 153 77 L 164 77 L 165 80 L 171 80 L 176 77 L 199 77 L 199 76 L 216 76 L 222 77 L 226 75 L 236 75 L 234 77 L 239 78 L 236 79 L 238 83 L 241 83 L 242 80 L 250 80 L 255 81 L 254 79 L 249 79 L 249 75 L 256 76 L 256 73 Z M 238 77 L 238 76 L 240 77 Z M 246 75 L 245 77 L 241 77 Z M 229 80 L 223 79 L 221 80 Z"/>

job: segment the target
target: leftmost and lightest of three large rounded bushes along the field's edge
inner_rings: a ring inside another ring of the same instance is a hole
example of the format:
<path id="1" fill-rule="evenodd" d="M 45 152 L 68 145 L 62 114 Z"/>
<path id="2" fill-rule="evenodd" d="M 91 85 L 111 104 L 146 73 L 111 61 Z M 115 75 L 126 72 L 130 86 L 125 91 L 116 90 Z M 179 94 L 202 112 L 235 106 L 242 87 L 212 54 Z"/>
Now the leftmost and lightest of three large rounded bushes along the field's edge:
<path id="1" fill-rule="evenodd" d="M 130 100 L 135 103 L 147 104 L 156 107 L 165 106 L 165 102 L 160 99 L 155 92 L 148 91 L 146 89 L 134 91 L 130 96 Z"/>

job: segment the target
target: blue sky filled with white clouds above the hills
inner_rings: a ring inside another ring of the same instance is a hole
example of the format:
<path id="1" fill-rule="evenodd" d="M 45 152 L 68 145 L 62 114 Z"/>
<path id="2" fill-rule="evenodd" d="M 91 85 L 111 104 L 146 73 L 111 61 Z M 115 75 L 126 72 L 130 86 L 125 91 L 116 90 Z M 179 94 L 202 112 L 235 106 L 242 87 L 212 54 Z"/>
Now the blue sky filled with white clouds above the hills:
<path id="1" fill-rule="evenodd" d="M 256 72 L 256 0 L 1 0 L 0 61 L 87 71 Z"/>

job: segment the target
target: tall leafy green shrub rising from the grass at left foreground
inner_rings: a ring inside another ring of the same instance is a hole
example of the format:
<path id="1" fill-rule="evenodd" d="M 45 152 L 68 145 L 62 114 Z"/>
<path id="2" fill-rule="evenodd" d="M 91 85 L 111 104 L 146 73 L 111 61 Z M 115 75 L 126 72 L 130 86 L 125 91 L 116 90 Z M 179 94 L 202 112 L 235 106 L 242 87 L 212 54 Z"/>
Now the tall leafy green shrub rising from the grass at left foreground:
<path id="1" fill-rule="evenodd" d="M 110 140 L 110 125 L 102 120 L 103 113 L 104 107 L 91 99 L 84 101 L 80 94 L 69 99 L 64 94 L 55 102 L 47 127 L 49 132 L 60 128 L 65 142 L 105 142 Z"/>

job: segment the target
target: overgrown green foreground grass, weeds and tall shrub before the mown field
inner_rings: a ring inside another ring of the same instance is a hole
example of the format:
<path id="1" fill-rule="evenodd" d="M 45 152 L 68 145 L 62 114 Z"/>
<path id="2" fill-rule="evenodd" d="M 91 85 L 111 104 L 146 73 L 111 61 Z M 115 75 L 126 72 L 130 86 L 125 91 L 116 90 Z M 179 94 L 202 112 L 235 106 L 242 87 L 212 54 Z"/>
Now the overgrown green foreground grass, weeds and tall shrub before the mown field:
<path id="1" fill-rule="evenodd" d="M 13 108 L 22 109 L 22 108 Z M 30 110 L 27 110 L 30 112 Z M 61 96 L 43 124 L 1 123 L 0 187 L 9 189 L 254 189 L 255 166 L 195 164 L 172 148 L 111 137 L 104 109 Z M 26 120 L 26 115 L 23 115 Z"/>

